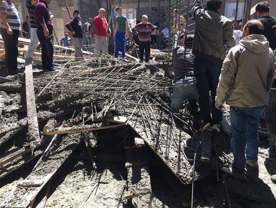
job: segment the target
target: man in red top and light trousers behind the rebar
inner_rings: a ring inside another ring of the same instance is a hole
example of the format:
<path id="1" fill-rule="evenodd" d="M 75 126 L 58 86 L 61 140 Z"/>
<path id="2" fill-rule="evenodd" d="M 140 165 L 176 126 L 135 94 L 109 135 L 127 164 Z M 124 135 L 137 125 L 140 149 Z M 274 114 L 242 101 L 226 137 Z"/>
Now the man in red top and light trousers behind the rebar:
<path id="1" fill-rule="evenodd" d="M 107 53 L 108 35 L 106 31 L 107 23 L 104 16 L 105 16 L 105 9 L 101 8 L 99 10 L 99 15 L 94 18 L 95 57 L 98 57 L 100 55 L 100 51 L 102 51 L 102 54 Z"/>

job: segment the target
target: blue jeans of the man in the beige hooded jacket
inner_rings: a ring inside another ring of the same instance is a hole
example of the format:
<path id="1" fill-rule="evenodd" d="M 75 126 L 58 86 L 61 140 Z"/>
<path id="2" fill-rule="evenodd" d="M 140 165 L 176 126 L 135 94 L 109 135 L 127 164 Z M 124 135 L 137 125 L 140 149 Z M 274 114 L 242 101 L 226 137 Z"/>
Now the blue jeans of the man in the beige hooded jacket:
<path id="1" fill-rule="evenodd" d="M 233 132 L 231 140 L 231 148 L 234 154 L 233 172 L 244 172 L 245 160 L 251 162 L 258 160 L 258 124 L 263 113 L 264 106 L 253 108 L 230 107 L 230 121 Z"/>

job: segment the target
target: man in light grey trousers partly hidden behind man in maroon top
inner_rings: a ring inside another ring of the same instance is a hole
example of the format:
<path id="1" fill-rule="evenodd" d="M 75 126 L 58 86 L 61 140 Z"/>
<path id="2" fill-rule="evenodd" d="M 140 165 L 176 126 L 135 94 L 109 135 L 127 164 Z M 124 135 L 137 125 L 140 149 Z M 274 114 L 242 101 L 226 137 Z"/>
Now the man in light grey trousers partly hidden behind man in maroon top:
<path id="1" fill-rule="evenodd" d="M 31 40 L 30 45 L 25 58 L 25 66 L 32 63 L 35 48 L 37 47 L 39 40 L 37 37 L 37 26 L 35 24 L 35 7 L 38 4 L 38 0 L 26 0 L 25 5 L 29 12 L 30 26 L 31 26 Z"/>

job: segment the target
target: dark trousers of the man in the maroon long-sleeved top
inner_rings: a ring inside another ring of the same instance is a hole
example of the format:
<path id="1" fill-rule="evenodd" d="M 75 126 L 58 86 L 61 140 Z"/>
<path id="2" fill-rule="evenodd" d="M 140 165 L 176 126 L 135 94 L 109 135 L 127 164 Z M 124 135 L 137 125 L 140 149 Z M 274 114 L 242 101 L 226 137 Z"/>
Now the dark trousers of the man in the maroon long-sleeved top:
<path id="1" fill-rule="evenodd" d="M 37 37 L 41 45 L 41 59 L 43 70 L 53 68 L 53 31 L 49 30 L 49 37 L 44 36 L 43 28 L 37 29 Z"/>

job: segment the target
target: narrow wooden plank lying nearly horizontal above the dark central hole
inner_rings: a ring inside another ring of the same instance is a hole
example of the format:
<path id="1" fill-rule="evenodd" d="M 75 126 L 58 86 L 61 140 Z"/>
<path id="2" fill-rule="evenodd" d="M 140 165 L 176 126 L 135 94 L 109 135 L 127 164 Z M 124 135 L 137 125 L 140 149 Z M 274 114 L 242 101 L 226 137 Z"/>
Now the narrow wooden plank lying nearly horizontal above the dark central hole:
<path id="1" fill-rule="evenodd" d="M 95 127 L 95 125 L 86 125 L 86 126 L 73 126 L 73 127 L 65 127 L 61 129 L 45 129 L 46 131 L 43 132 L 46 135 L 55 135 L 55 134 L 68 134 L 68 133 L 78 133 L 78 132 L 90 132 L 90 131 L 97 131 L 103 129 L 112 129 L 117 127 L 125 126 L 124 124 L 116 124 L 110 126 L 103 126 L 103 127 Z"/>

